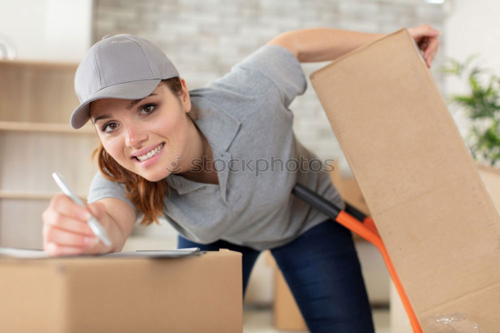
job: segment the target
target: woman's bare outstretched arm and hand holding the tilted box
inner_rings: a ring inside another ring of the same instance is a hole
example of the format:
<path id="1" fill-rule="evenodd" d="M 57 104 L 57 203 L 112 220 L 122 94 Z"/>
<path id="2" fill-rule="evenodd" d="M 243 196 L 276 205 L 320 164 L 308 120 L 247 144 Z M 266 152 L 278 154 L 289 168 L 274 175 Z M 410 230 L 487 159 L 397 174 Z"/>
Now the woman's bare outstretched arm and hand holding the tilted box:
<path id="1" fill-rule="evenodd" d="M 437 52 L 440 32 L 428 24 L 408 29 L 428 67 Z M 376 39 L 383 33 L 365 33 L 333 28 L 309 28 L 278 34 L 267 44 L 276 44 L 289 49 L 300 62 L 334 60 L 339 56 Z"/>

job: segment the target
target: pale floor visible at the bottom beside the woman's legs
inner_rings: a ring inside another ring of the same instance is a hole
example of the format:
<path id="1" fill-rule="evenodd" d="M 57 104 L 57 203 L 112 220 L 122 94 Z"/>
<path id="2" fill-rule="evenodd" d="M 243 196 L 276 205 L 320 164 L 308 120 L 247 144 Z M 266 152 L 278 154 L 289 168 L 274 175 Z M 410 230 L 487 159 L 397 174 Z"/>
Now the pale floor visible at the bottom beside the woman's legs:
<path id="1" fill-rule="evenodd" d="M 389 311 L 374 309 L 375 333 L 390 333 Z M 305 333 L 306 331 L 277 330 L 272 327 L 270 309 L 247 309 L 243 311 L 243 333 Z"/>

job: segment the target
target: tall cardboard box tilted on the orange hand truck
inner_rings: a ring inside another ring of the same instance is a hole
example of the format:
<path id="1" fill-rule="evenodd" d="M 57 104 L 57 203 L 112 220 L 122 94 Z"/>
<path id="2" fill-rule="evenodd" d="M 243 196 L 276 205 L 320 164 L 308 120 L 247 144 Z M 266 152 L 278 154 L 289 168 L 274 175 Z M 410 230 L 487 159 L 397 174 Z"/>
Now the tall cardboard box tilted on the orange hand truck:
<path id="1" fill-rule="evenodd" d="M 310 78 L 423 331 L 498 331 L 500 216 L 408 31 Z"/>

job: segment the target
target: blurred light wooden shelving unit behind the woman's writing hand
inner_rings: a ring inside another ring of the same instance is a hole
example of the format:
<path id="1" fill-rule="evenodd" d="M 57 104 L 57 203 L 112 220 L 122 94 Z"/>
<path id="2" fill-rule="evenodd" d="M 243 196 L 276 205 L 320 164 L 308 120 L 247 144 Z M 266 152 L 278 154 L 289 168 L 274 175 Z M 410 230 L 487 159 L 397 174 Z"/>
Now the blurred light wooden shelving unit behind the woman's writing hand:
<path id="1" fill-rule="evenodd" d="M 41 212 L 59 192 L 51 172 L 86 197 L 98 138 L 69 126 L 76 66 L 0 61 L 0 246 L 41 247 Z"/>

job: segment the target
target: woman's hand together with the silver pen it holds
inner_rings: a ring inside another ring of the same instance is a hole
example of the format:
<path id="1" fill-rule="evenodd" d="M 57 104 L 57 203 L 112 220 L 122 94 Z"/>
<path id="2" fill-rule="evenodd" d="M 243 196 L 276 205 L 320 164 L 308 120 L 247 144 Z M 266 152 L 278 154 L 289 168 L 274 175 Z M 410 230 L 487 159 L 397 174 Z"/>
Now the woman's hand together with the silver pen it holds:
<path id="1" fill-rule="evenodd" d="M 109 216 L 98 203 L 86 205 L 57 173 L 64 194 L 56 194 L 42 213 L 43 249 L 49 255 L 100 254 L 111 251 Z"/>

